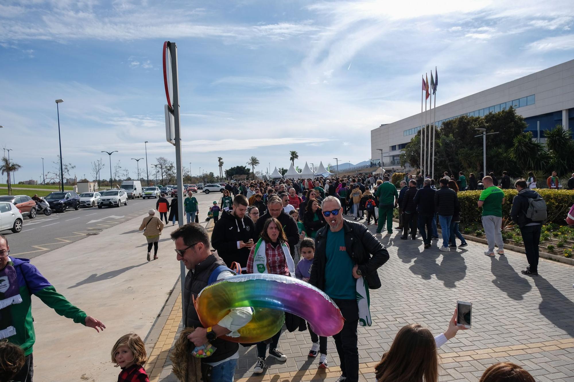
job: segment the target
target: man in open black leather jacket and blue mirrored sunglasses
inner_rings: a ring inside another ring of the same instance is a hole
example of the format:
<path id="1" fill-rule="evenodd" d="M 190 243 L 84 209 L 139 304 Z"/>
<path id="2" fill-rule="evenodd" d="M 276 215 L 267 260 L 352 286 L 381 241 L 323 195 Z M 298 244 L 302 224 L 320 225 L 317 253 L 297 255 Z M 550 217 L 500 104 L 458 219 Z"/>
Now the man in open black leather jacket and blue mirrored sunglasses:
<path id="1" fill-rule="evenodd" d="M 345 318 L 343 329 L 333 336 L 343 374 L 339 381 L 357 382 L 359 309 L 356 279 L 364 276 L 371 289 L 380 287 L 377 269 L 389 260 L 389 252 L 364 224 L 343 219 L 338 198 L 325 198 L 321 207 L 328 225 L 321 228 L 315 238 L 309 283 L 331 297 Z"/>

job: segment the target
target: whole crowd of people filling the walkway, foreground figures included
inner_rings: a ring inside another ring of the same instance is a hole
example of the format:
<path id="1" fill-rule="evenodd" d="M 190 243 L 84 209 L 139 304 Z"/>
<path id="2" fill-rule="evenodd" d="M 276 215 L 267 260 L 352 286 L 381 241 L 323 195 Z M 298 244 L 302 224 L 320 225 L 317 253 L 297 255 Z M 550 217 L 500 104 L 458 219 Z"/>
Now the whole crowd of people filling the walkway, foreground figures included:
<path id="1" fill-rule="evenodd" d="M 506 185 L 505 175 L 501 178 L 502 185 Z M 173 231 L 171 238 L 177 260 L 183 262 L 188 270 L 183 294 L 185 326 L 195 328 L 188 339 L 195 346 L 210 342 L 216 348 L 210 357 L 201 358 L 204 380 L 207 376 L 210 377 L 207 380 L 213 381 L 234 380 L 239 344 L 225 338 L 239 336 L 238 330 L 250 321 L 253 311 L 249 307 L 231 309 L 217 325 L 203 328 L 193 298 L 212 279 L 222 280 L 240 273 L 269 273 L 309 282 L 336 303 L 344 318 L 343 329 L 333 336 L 342 372 L 338 382 L 358 381 L 357 328 L 360 308 L 356 283 L 362 279 L 370 289 L 381 287 L 378 268 L 389 259 L 388 251 L 368 227 L 370 220 L 373 219 L 377 226 L 376 233 L 382 232 L 385 223 L 387 233 L 390 233 L 393 229 L 393 212 L 398 208 L 400 219 L 397 228 L 402 232 L 401 239 L 408 240 L 410 237 L 416 240 L 418 230 L 424 248 L 430 248 L 431 240 L 439 239 L 438 220 L 442 236 L 440 250 L 464 247 L 467 243 L 459 231 L 460 203 L 457 193 L 478 185 L 474 174 L 470 174 L 467 180 L 463 173 L 459 173 L 455 180 L 445 173 L 439 180 L 439 188 L 430 178 L 409 176 L 401 182 L 398 190 L 390 183 L 389 176 L 228 184 L 223 196 L 213 202 L 210 211 L 210 217 L 214 220 L 211 237 L 202 225 L 195 223 L 199 213 L 197 199 L 193 194 L 185 198 L 188 224 Z M 536 184 L 535 178 L 515 182 L 518 196 L 511 209 L 511 217 L 521 229 L 529 262 L 522 273 L 528 275 L 538 274 L 538 241 L 542 223 L 529 213 L 530 200 L 541 199 L 532 190 L 533 183 Z M 482 208 L 482 224 L 488 241 L 485 254 L 503 255 L 500 228 L 505 194 L 492 176 L 480 178 L 480 184 L 483 190 L 478 206 Z M 557 178 L 550 179 L 550 185 L 557 186 Z M 177 213 L 177 202 L 177 197 L 170 204 L 165 197 L 160 198 L 156 205 L 160 217 L 156 217 L 152 209 L 142 221 L 140 230 L 144 230 L 148 241 L 148 261 L 152 247 L 154 259 L 157 259 L 158 237 L 164 228 L 162 220 L 167 224 L 169 220 L 173 219 L 174 223 L 177 219 L 177 216 L 173 217 L 173 213 Z M 172 213 L 168 220 L 169 211 Z M 357 222 L 365 219 L 365 216 L 366 224 Z M 460 240 L 459 245 L 456 238 Z M 495 246 L 498 246 L 496 251 Z M 211 248 L 215 251 L 211 251 Z M 13 329 L 15 334 L 6 332 L 9 335 L 3 334 L 3 338 L 7 338 L 8 342 L 0 343 L 0 352 L 9 355 L 0 357 L 2 380 L 32 381 L 34 332 L 30 294 L 37 295 L 46 305 L 74 322 L 83 323 L 98 332 L 105 328 L 102 322 L 72 306 L 63 295 L 56 293 L 28 260 L 9 258 L 8 242 L 2 235 L 0 272 L 0 276 L 6 275 L 12 285 L 20 288 L 3 293 L 3 298 L 11 298 L 8 306 L 12 306 L 13 317 L 11 326 L 0 328 L 0 333 L 2 329 Z M 307 330 L 304 322 L 301 326 Z M 460 329 L 456 322 L 456 311 L 447 330 L 436 337 L 419 324 L 404 326 L 375 367 L 377 381 L 437 381 L 436 349 Z M 310 326 L 308 330 L 312 341 L 309 357 L 319 356 L 319 368 L 328 368 L 327 338 L 317 336 Z M 256 344 L 255 373 L 267 368 L 267 354 L 278 361 L 287 360 L 287 356 L 281 352 L 280 338 L 281 330 L 269 340 Z M 122 369 L 118 381 L 147 381 L 143 368 L 146 357 L 141 338 L 135 334 L 121 337 L 111 352 L 112 361 Z M 491 382 L 503 378 L 508 382 L 534 381 L 528 372 L 510 362 L 492 365 L 480 381 Z"/>

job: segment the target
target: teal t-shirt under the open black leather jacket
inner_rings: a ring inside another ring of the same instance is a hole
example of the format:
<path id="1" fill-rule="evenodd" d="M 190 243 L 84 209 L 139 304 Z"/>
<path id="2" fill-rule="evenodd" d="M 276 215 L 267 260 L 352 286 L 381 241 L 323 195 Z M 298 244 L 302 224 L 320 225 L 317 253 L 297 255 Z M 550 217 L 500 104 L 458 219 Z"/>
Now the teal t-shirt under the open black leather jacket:
<path id="1" fill-rule="evenodd" d="M 325 248 L 325 293 L 331 298 L 354 300 L 356 281 L 353 278 L 355 262 L 345 250 L 345 231 L 327 231 Z"/>

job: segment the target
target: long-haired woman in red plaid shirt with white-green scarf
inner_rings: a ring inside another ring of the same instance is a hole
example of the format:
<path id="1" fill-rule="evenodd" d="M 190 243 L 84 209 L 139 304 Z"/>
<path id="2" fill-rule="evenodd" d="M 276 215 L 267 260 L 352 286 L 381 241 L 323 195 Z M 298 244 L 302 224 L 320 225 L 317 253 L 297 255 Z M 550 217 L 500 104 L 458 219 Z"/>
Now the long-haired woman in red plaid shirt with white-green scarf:
<path id="1" fill-rule="evenodd" d="M 259 239 L 259 243 L 257 244 L 258 245 L 253 245 L 253 247 L 251 247 L 249 259 L 247 260 L 247 273 L 254 273 L 253 268 L 255 255 L 257 255 L 257 250 L 261 248 L 262 245 L 265 245 L 261 250 L 265 250 L 266 264 L 265 267 L 263 267 L 263 264 L 255 264 L 257 270 L 256 273 L 290 276 L 289 267 L 285 257 L 290 256 L 288 252 L 289 246 L 287 244 L 287 237 L 281 227 L 281 223 L 279 223 L 277 219 L 270 217 L 265 221 L 263 231 L 261 232 L 261 239 Z M 269 345 L 269 355 L 279 361 L 286 361 L 287 357 L 285 354 L 281 353 L 281 351 L 277 349 L 280 336 L 281 330 L 270 338 L 271 343 Z M 263 370 L 267 368 L 267 365 L 265 364 L 266 353 L 266 342 L 259 342 L 257 344 L 257 363 L 255 364 L 254 373 L 262 373 Z"/>

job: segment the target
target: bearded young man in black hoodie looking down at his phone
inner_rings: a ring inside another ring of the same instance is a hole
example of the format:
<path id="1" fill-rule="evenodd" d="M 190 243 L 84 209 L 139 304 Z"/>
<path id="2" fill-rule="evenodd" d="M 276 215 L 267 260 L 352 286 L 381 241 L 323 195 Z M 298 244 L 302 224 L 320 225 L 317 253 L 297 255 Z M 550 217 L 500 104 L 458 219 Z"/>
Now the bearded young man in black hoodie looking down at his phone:
<path id="1" fill-rule="evenodd" d="M 245 196 L 236 196 L 231 211 L 222 211 L 211 234 L 211 245 L 230 268 L 233 262 L 239 263 L 242 270 L 247 268 L 249 251 L 258 238 L 253 221 L 245 215 L 247 204 Z"/>

